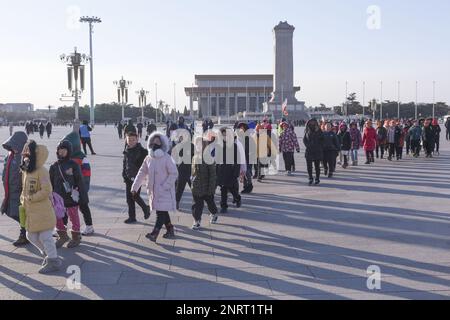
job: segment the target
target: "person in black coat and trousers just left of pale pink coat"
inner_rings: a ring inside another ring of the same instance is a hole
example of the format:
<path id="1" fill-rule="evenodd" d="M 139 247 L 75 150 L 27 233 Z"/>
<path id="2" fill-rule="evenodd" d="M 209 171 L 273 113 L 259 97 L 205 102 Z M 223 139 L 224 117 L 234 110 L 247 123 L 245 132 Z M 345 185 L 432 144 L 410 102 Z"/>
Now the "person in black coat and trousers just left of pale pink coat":
<path id="1" fill-rule="evenodd" d="M 142 200 L 140 195 L 141 190 L 139 189 L 134 197 L 131 194 L 131 186 L 133 185 L 134 179 L 148 155 L 148 151 L 142 147 L 138 140 L 137 133 L 128 132 L 126 147 L 123 151 L 122 178 L 125 183 L 128 204 L 128 219 L 125 220 L 126 224 L 136 222 L 136 203 L 144 211 L 144 219 L 148 220 L 150 218 L 150 207 Z"/>

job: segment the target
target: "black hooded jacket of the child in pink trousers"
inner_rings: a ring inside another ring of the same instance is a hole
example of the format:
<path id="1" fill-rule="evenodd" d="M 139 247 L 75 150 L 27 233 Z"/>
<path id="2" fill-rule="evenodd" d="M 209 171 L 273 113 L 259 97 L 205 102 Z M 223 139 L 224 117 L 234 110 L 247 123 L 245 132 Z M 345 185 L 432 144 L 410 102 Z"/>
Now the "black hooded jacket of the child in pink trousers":
<path id="1" fill-rule="evenodd" d="M 72 155 L 72 144 L 69 141 L 64 140 L 60 142 L 58 149 L 67 149 L 68 153 L 66 158 L 56 161 L 50 167 L 50 181 L 52 183 L 53 192 L 56 192 L 64 199 L 64 206 L 66 208 L 88 203 L 89 200 L 83 183 L 80 166 L 70 159 Z M 66 192 L 64 181 L 67 181 L 72 189 L 78 190 L 78 202 L 75 202 L 72 199 L 72 194 L 70 192 Z"/>

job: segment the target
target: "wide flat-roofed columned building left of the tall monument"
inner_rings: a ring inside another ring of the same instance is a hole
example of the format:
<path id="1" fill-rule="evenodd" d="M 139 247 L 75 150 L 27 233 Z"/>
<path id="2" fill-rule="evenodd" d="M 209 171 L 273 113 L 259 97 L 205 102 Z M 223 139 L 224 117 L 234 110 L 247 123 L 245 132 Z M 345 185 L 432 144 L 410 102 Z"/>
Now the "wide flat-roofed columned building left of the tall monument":
<path id="1" fill-rule="evenodd" d="M 204 117 L 232 117 L 244 112 L 263 112 L 273 92 L 273 75 L 196 75 L 195 86 L 185 88 Z"/>

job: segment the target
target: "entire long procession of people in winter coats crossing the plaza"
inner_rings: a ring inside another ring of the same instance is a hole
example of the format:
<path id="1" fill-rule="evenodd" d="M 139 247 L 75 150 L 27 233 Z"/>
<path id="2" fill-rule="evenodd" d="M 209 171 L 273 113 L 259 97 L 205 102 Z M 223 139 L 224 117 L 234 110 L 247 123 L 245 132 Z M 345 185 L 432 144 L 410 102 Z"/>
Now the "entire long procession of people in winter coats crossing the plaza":
<path id="1" fill-rule="evenodd" d="M 144 140 L 144 127 L 146 147 L 139 142 Z M 343 169 L 358 166 L 360 149 L 367 165 L 385 157 L 388 161 L 400 161 L 405 149 L 406 155 L 413 157 L 419 157 L 422 150 L 428 158 L 439 154 L 441 129 L 437 120 L 393 119 L 377 121 L 375 125 L 368 120 L 362 130 L 358 127 L 357 122 L 345 121 L 311 119 L 306 123 L 303 144 L 309 185 L 320 184 L 322 168 L 325 176 L 332 178 L 338 165 Z M 278 155 L 282 155 L 286 175 L 296 171 L 294 155 L 301 146 L 295 124 L 287 119 L 275 125 L 264 118 L 260 122 L 239 122 L 233 128 L 213 128 L 214 123 L 207 120 L 202 124 L 203 134 L 195 135 L 195 127 L 187 125 L 183 117 L 168 122 L 165 133 L 159 132 L 154 123 L 134 126 L 129 121 L 125 127 L 117 124 L 119 138 L 124 139 L 122 178 L 128 206 L 124 223 L 137 222 L 137 204 L 145 220 L 156 212 L 153 230 L 146 235 L 150 241 L 156 242 L 163 228 L 163 238 L 174 239 L 170 212 L 180 210 L 186 185 L 192 191 L 192 229 L 199 230 L 205 204 L 211 224 L 218 222 L 219 214 L 228 212 L 229 195 L 235 207 L 240 208 L 245 195 L 253 192 L 253 180 L 262 182 Z M 13 244 L 31 243 L 42 254 L 40 273 L 61 268 L 59 248 L 66 244 L 67 248 L 76 248 L 82 235 L 94 234 L 89 207 L 91 169 L 86 157 L 86 146 L 95 154 L 91 131 L 84 122 L 79 132 L 66 135 L 55 150 L 57 160 L 49 170 L 44 167 L 47 147 L 29 139 L 26 132 L 15 132 L 3 143 L 8 156 L 2 177 L 5 197 L 1 212 L 18 222 L 19 238 Z M 143 186 L 148 205 L 141 197 Z M 83 231 L 79 212 L 85 224 Z"/>

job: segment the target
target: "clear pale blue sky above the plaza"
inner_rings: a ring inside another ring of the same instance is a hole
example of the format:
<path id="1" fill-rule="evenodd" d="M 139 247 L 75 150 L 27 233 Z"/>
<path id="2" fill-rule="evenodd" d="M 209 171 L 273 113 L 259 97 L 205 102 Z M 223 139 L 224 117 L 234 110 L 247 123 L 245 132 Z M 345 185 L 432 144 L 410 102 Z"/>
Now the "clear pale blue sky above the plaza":
<path id="1" fill-rule="evenodd" d="M 375 6 L 375 7 L 373 7 Z M 375 8 L 375 9 L 373 9 Z M 177 109 L 195 74 L 272 74 L 273 27 L 294 25 L 294 78 L 307 106 L 366 97 L 450 103 L 448 0 L 0 0 L 0 103 L 60 106 L 68 94 L 59 56 L 89 53 L 94 33 L 95 102 L 116 99 L 114 80 L 132 81 Z M 88 70 L 87 70 L 88 75 Z M 383 81 L 383 95 L 381 84 Z M 175 88 L 174 88 L 175 84 Z M 174 90 L 175 89 L 175 90 Z M 89 104 L 89 84 L 81 104 Z"/>

